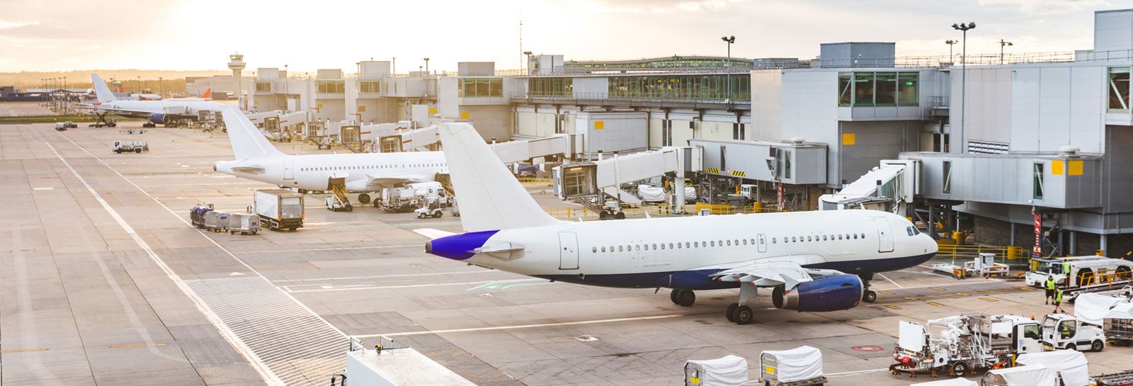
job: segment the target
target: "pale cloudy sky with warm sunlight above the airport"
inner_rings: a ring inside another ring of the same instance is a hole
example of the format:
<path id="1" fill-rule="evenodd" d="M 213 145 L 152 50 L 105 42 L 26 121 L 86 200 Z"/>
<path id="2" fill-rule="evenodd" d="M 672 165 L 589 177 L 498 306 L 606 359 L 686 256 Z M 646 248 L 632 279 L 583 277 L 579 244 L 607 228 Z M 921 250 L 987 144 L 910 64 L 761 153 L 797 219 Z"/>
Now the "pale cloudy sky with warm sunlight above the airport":
<path id="1" fill-rule="evenodd" d="M 726 52 L 813 58 L 828 42 L 896 42 L 898 57 L 946 55 L 951 25 L 976 22 L 969 52 L 1092 48 L 1093 11 L 1133 0 L 0 0 L 0 71 L 289 67 L 404 72 L 458 61 L 520 67 L 522 51 L 566 60 Z M 520 50 L 522 20 L 522 50 Z M 956 46 L 959 51 L 959 45 Z"/>

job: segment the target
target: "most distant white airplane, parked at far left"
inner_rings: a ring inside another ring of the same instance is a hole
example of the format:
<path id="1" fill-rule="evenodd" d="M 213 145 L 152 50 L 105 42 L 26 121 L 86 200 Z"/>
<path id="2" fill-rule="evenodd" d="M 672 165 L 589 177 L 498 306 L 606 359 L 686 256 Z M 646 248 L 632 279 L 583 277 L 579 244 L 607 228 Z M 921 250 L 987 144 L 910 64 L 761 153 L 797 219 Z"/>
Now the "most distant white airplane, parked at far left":
<path id="1" fill-rule="evenodd" d="M 94 82 L 94 94 L 97 103 L 83 105 L 99 114 L 99 120 L 103 120 L 108 113 L 116 113 L 126 117 L 138 117 L 150 120 L 144 127 L 155 127 L 172 122 L 176 118 L 196 119 L 197 111 L 216 111 L 223 106 L 216 102 L 197 100 L 163 100 L 163 101 L 120 101 L 107 87 L 107 83 L 97 74 L 91 74 Z"/>

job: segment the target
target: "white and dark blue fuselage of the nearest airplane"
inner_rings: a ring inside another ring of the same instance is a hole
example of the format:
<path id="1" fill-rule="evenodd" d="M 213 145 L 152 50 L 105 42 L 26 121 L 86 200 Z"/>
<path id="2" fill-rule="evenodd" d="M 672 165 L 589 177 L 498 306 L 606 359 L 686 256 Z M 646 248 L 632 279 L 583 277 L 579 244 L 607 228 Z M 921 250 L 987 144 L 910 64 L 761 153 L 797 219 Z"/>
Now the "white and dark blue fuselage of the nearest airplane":
<path id="1" fill-rule="evenodd" d="M 453 238 L 467 246 L 442 256 L 478 266 L 580 284 L 687 290 L 734 288 L 708 275 L 753 260 L 864 275 L 909 268 L 937 251 L 906 218 L 857 209 L 562 222 Z M 428 248 L 438 248 L 445 239 Z M 459 254 L 477 248 L 482 252 Z"/>

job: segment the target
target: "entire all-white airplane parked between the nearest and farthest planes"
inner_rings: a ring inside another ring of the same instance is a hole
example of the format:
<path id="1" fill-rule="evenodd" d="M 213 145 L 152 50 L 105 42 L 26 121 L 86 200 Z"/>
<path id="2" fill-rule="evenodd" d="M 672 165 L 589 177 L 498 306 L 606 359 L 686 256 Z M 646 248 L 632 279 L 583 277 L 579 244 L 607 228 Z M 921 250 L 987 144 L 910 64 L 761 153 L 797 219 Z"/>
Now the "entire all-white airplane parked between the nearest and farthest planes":
<path id="1" fill-rule="evenodd" d="M 398 185 L 434 181 L 449 168 L 441 152 L 283 154 L 264 138 L 236 106 L 221 110 L 235 161 L 216 162 L 213 170 L 273 183 L 282 188 L 331 190 L 331 179 L 342 178 L 358 200 L 369 203 L 369 191 Z"/>

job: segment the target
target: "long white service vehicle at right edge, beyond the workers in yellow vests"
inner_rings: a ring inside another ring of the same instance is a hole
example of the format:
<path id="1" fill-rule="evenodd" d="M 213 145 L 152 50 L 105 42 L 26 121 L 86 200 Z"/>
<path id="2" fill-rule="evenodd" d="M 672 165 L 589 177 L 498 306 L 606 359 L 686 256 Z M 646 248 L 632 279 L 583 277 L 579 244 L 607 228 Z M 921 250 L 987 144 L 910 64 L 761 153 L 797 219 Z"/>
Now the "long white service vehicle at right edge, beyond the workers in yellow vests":
<path id="1" fill-rule="evenodd" d="M 1070 282 L 1066 281 L 1064 263 L 1070 263 Z M 1067 256 L 1031 259 L 1031 271 L 1023 278 L 1028 285 L 1042 288 L 1047 276 L 1065 288 L 1091 285 L 1111 281 L 1128 281 L 1133 261 L 1105 256 Z"/>

